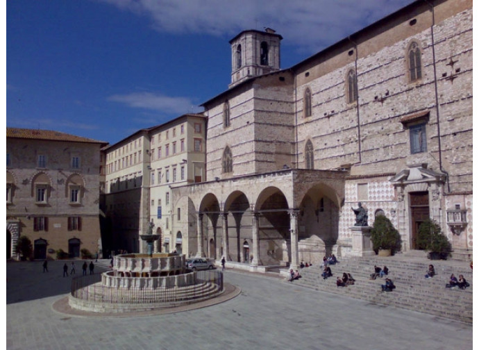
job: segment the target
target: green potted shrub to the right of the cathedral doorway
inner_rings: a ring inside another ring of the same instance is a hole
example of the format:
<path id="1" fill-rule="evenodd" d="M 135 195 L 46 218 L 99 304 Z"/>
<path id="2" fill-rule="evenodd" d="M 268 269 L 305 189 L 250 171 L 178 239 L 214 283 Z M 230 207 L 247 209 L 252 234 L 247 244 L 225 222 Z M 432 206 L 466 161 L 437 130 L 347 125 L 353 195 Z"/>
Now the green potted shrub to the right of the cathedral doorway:
<path id="1" fill-rule="evenodd" d="M 452 251 L 451 243 L 442 233 L 441 227 L 434 220 L 427 219 L 419 225 L 419 249 L 426 249 L 431 260 L 446 260 Z"/>

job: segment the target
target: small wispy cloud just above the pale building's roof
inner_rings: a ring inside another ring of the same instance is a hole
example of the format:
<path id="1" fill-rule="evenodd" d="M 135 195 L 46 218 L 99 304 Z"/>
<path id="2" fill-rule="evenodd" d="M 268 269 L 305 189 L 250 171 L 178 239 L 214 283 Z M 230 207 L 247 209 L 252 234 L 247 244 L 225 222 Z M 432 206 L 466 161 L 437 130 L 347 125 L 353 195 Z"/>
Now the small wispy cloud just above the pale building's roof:
<path id="1" fill-rule="evenodd" d="M 185 113 L 196 113 L 202 110 L 187 97 L 168 97 L 153 92 L 132 92 L 131 94 L 115 94 L 108 97 L 108 101 L 125 103 L 133 108 L 144 108 L 158 110 L 162 113 L 174 113 L 183 115 Z"/>

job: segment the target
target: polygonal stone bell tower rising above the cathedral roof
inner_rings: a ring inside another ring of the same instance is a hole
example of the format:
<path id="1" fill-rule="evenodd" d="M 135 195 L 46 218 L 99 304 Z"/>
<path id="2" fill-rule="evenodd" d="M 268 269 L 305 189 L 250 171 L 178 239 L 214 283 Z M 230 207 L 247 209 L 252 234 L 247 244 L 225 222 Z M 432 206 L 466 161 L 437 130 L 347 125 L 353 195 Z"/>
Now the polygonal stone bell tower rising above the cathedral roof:
<path id="1" fill-rule="evenodd" d="M 271 28 L 242 31 L 230 40 L 231 83 L 228 88 L 280 69 L 280 41 L 283 37 Z"/>

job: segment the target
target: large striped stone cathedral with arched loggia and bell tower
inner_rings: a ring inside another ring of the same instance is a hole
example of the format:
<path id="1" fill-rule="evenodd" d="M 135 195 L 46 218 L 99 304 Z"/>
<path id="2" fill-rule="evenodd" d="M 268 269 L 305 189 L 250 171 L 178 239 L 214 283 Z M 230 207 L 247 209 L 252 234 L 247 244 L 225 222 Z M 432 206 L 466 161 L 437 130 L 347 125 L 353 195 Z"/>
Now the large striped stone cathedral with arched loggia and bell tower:
<path id="1" fill-rule="evenodd" d="M 206 181 L 172 193 L 189 251 L 259 270 L 358 255 L 360 201 L 403 251 L 430 217 L 471 257 L 472 1 L 415 1 L 289 69 L 280 40 L 233 38 L 230 88 L 203 103 Z"/>

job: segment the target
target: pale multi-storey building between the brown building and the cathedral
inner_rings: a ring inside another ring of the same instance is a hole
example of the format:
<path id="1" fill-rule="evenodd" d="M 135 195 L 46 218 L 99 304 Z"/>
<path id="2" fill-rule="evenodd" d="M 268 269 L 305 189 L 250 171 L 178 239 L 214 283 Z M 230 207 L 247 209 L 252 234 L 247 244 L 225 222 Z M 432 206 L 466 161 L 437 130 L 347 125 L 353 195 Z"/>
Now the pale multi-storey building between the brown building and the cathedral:
<path id="1" fill-rule="evenodd" d="M 160 234 L 155 251 L 187 251 L 187 212 L 174 206 L 171 190 L 205 179 L 205 117 L 182 115 L 142 129 L 103 149 L 104 213 L 111 249 L 145 252 L 140 235 Z"/>

